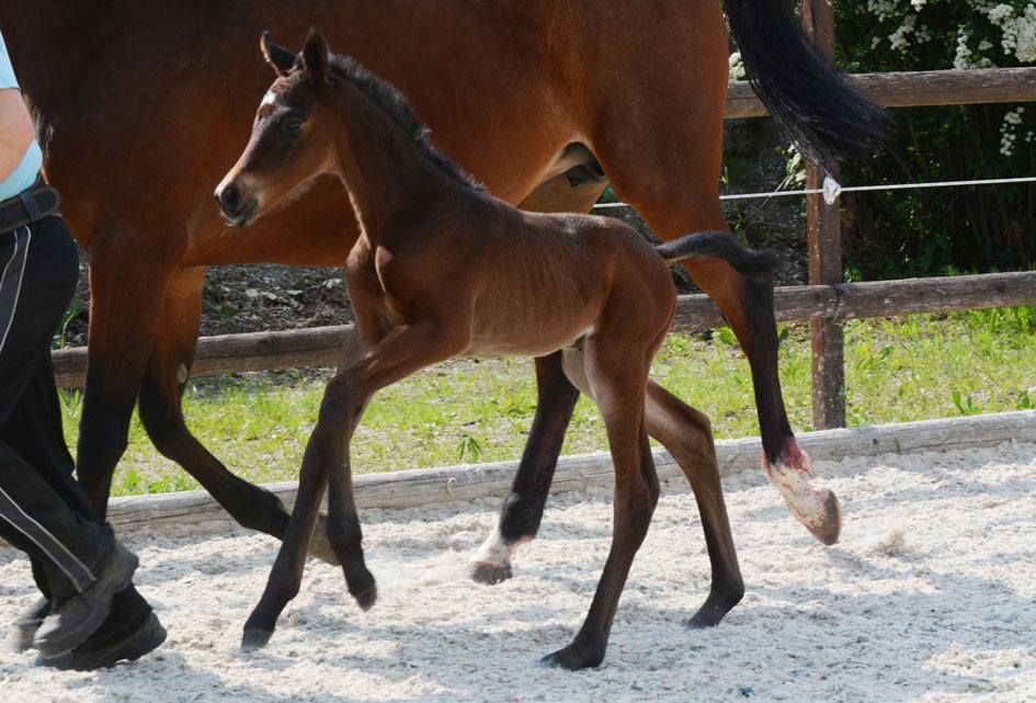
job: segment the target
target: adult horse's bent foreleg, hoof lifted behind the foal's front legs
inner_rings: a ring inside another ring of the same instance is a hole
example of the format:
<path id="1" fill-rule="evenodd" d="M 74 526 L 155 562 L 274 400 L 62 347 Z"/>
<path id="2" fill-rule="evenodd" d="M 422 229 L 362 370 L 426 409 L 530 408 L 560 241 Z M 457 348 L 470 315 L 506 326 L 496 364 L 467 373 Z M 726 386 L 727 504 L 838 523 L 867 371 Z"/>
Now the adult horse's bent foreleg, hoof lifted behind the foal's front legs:
<path id="1" fill-rule="evenodd" d="M 156 449 L 196 478 L 239 524 L 280 540 L 288 525 L 281 500 L 227 470 L 184 423 L 181 400 L 194 363 L 204 283 L 205 269 L 196 267 L 178 269 L 166 285 L 140 386 L 140 420 Z M 323 530 L 316 533 L 310 552 L 335 563 Z"/>

